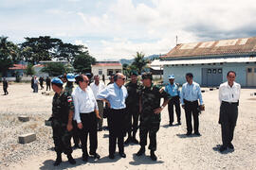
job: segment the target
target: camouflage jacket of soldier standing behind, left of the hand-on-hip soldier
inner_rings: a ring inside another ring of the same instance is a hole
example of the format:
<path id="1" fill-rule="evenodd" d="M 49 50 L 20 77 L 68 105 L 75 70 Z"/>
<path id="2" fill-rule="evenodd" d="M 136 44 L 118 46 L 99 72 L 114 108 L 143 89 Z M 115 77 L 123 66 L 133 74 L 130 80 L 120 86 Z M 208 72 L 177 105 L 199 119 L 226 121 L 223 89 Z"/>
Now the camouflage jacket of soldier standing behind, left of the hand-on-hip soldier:
<path id="1" fill-rule="evenodd" d="M 142 84 L 137 81 L 137 83 L 132 83 L 131 81 L 125 84 L 128 92 L 128 96 L 125 100 L 127 107 L 138 107 L 139 106 L 139 93 L 142 89 Z"/>

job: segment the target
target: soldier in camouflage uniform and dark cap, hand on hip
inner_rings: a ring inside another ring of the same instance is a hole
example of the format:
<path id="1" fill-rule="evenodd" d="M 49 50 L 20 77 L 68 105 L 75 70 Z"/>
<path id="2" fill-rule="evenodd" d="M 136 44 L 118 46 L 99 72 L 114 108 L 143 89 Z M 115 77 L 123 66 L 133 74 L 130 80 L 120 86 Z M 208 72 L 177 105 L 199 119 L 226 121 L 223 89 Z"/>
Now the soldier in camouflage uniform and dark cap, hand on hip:
<path id="1" fill-rule="evenodd" d="M 151 73 L 144 73 L 142 75 L 143 88 L 140 92 L 140 124 L 139 124 L 139 138 L 140 149 L 137 156 L 145 153 L 145 145 L 147 145 L 147 134 L 149 133 L 150 157 L 153 161 L 157 160 L 155 156 L 156 150 L 156 132 L 160 127 L 160 112 L 168 104 L 171 96 L 165 91 L 161 91 L 159 87 L 152 83 Z M 160 106 L 160 99 L 164 98 L 162 106 Z"/>

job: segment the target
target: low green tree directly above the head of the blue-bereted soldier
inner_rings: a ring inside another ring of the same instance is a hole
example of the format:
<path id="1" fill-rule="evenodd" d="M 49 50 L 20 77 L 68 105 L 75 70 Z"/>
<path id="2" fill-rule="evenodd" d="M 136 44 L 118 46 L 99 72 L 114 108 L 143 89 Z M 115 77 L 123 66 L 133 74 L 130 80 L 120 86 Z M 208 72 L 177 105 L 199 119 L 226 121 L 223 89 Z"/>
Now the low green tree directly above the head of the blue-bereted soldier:
<path id="1" fill-rule="evenodd" d="M 64 63 L 47 63 L 41 72 L 49 74 L 49 76 L 60 76 L 66 73 L 66 65 Z"/>

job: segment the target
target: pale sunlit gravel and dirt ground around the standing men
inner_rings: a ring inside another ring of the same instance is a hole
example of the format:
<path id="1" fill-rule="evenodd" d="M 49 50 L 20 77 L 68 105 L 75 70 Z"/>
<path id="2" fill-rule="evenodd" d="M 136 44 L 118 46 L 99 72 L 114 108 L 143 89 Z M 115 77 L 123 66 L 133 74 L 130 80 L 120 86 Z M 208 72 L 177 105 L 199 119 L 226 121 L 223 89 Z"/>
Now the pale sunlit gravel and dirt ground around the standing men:
<path id="1" fill-rule="evenodd" d="M 0 88 L 2 90 L 2 86 Z M 184 110 L 182 125 L 173 127 L 168 126 L 167 107 L 162 111 L 155 152 L 157 161 L 151 161 L 149 150 L 145 156 L 138 158 L 135 155 L 139 149 L 138 144 L 125 146 L 126 159 L 119 158 L 117 154 L 115 160 L 109 160 L 108 131 L 103 130 L 98 133 L 100 160 L 90 158 L 84 163 L 81 159 L 82 151 L 76 149 L 73 152 L 77 161 L 75 165 L 70 165 L 64 157 L 64 162 L 55 169 L 256 169 L 256 96 L 253 95 L 256 89 L 242 89 L 233 140 L 235 149 L 224 153 L 218 151 L 221 144 L 218 90 L 205 90 L 203 100 L 206 110 L 199 117 L 200 137 L 185 135 Z M 54 169 L 51 127 L 46 127 L 44 122 L 51 114 L 52 95 L 42 92 L 45 90 L 32 93 L 29 83 L 13 83 L 9 85 L 9 95 L 0 95 L 0 169 Z M 17 116 L 22 114 L 28 115 L 30 121 L 18 121 Z M 37 140 L 29 144 L 18 144 L 18 135 L 27 132 L 35 132 Z"/>

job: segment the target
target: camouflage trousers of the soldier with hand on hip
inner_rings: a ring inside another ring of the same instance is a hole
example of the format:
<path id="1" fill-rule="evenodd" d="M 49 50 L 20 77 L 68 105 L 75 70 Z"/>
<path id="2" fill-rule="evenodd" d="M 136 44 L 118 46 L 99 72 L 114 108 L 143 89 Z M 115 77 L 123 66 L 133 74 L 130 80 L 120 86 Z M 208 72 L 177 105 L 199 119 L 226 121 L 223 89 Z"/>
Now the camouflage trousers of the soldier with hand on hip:
<path id="1" fill-rule="evenodd" d="M 139 144 L 147 145 L 147 136 L 149 134 L 150 144 L 149 149 L 156 150 L 156 132 L 159 130 L 160 122 L 152 119 L 141 119 L 139 124 Z"/>

